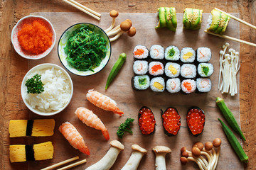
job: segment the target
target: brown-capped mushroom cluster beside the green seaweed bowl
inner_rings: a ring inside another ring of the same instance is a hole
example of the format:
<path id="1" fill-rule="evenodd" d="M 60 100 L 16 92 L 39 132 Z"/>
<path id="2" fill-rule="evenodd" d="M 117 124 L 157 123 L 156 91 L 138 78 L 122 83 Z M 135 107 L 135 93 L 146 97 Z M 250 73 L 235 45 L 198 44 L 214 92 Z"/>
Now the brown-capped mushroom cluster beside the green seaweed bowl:
<path id="1" fill-rule="evenodd" d="M 110 11 L 110 16 L 112 17 L 112 24 L 110 28 L 105 30 L 107 36 L 110 38 L 110 42 L 117 40 L 123 33 L 127 33 L 130 37 L 133 37 L 136 34 L 136 29 L 132 26 L 132 21 L 129 19 L 123 21 L 119 26 L 114 28 L 118 12 L 115 10 Z"/>

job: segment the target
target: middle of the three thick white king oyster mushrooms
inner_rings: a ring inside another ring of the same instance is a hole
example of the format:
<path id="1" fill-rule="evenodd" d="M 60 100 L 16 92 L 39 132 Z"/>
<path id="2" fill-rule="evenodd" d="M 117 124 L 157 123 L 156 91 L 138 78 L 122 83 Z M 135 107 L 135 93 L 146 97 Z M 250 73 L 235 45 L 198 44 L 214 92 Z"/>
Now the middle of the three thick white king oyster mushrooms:
<path id="1" fill-rule="evenodd" d="M 121 170 L 136 170 L 142 157 L 146 154 L 146 149 L 139 147 L 139 145 L 132 145 L 132 149 L 131 157 L 129 157 L 129 160 Z"/>

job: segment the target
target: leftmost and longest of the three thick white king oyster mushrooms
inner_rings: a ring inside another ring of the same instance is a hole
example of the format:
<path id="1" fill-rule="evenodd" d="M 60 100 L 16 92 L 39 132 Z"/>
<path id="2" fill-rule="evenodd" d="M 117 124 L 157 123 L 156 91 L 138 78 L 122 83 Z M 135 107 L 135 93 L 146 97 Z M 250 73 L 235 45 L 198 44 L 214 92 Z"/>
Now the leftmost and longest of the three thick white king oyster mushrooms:
<path id="1" fill-rule="evenodd" d="M 119 152 L 124 149 L 124 145 L 117 140 L 112 140 L 110 145 L 111 147 L 107 151 L 107 154 L 105 154 L 105 156 L 102 157 L 99 162 L 92 164 L 85 170 L 109 170 L 116 161 Z"/>

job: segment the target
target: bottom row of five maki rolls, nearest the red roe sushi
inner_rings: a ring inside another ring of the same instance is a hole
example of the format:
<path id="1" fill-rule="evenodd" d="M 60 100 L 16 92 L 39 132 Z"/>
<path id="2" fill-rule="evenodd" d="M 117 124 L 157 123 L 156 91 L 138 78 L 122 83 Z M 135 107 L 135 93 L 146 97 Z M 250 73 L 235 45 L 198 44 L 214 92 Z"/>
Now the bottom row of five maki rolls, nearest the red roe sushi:
<path id="1" fill-rule="evenodd" d="M 181 81 L 178 78 L 168 79 L 165 83 L 163 77 L 154 77 L 150 79 L 148 75 L 132 77 L 132 87 L 135 90 L 146 90 L 150 87 L 151 91 L 164 92 L 166 89 L 171 94 L 181 91 L 183 94 L 192 94 L 198 90 L 198 93 L 206 93 L 211 90 L 212 83 L 210 79 L 198 78 L 184 79 Z"/>

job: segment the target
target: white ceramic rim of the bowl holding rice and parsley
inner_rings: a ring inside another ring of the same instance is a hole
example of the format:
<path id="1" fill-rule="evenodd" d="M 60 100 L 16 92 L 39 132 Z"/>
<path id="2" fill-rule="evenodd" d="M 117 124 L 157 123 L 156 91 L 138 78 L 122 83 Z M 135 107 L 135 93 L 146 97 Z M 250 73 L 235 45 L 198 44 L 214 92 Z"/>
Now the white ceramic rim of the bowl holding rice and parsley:
<path id="1" fill-rule="evenodd" d="M 68 80 L 70 81 L 70 98 L 68 99 L 68 103 L 65 104 L 65 106 L 63 106 L 63 108 L 60 108 L 60 110 L 58 111 L 53 111 L 53 112 L 42 112 L 42 111 L 39 111 L 38 109 L 36 108 L 32 108 L 29 103 L 26 101 L 25 99 L 25 95 L 26 95 L 26 81 L 28 79 L 28 75 L 30 75 L 31 73 L 35 72 L 36 70 L 38 69 L 46 69 L 46 68 L 55 68 L 55 69 L 59 69 L 63 72 L 63 74 L 65 74 L 66 77 L 68 77 Z M 36 113 L 38 115 L 55 115 L 57 113 L 60 113 L 61 111 L 63 111 L 67 106 L 68 104 L 70 103 L 71 101 L 71 98 L 73 96 L 73 81 L 72 79 L 70 78 L 70 75 L 68 74 L 68 72 L 65 71 L 65 69 L 63 69 L 62 67 L 56 65 L 56 64 L 50 64 L 50 63 L 46 63 L 46 64 L 39 64 L 37 65 L 36 67 L 33 67 L 32 69 L 30 69 L 27 74 L 25 75 L 25 77 L 23 78 L 23 81 L 21 83 L 21 97 L 23 99 L 23 102 L 26 104 L 26 106 L 28 107 L 29 110 L 31 110 L 33 113 Z"/>

